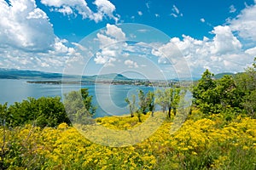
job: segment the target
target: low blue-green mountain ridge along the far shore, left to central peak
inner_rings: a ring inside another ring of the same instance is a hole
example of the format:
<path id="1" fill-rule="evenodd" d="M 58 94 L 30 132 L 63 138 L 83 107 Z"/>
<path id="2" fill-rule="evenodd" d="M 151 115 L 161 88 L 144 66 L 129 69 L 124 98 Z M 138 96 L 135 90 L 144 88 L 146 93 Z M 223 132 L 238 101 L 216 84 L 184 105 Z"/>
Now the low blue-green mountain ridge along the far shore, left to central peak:
<path id="1" fill-rule="evenodd" d="M 0 68 L 0 78 L 2 79 L 61 79 L 61 73 L 51 73 L 43 71 L 23 71 L 16 69 L 3 69 Z M 68 79 L 77 79 L 79 76 L 65 75 L 65 78 Z M 95 76 L 83 76 L 83 81 L 107 81 L 107 80 L 131 80 L 128 77 L 125 77 L 121 74 L 106 74 L 106 75 L 95 75 Z"/>

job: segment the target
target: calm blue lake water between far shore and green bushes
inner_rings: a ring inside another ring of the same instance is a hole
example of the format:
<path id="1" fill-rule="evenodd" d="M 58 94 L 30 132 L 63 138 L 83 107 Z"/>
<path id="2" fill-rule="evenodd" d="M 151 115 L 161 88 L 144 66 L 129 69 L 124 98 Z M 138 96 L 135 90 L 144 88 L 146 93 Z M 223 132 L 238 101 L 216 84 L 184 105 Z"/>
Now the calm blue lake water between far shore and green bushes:
<path id="1" fill-rule="evenodd" d="M 0 79 L 0 104 L 8 102 L 12 105 L 28 97 L 36 99 L 43 96 L 62 97 L 62 92 L 64 94 L 81 88 L 80 85 L 63 85 L 62 87 L 61 84 L 36 84 L 26 81 L 28 80 Z M 125 97 L 137 94 L 138 89 L 142 89 L 145 93 L 149 90 L 154 91 L 152 87 L 110 84 L 86 85 L 82 88 L 88 88 L 89 94 L 93 96 L 92 103 L 97 106 L 96 116 L 128 114 Z"/>

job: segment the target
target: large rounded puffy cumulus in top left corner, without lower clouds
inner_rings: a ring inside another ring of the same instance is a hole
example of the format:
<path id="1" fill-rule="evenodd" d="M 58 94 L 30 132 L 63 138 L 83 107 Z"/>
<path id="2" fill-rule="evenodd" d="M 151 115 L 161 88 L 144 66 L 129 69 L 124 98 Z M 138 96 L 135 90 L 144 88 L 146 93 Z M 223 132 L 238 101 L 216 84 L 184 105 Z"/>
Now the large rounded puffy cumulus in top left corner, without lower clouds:
<path id="1" fill-rule="evenodd" d="M 47 52 L 55 34 L 47 15 L 31 0 L 0 0 L 0 48 Z"/>

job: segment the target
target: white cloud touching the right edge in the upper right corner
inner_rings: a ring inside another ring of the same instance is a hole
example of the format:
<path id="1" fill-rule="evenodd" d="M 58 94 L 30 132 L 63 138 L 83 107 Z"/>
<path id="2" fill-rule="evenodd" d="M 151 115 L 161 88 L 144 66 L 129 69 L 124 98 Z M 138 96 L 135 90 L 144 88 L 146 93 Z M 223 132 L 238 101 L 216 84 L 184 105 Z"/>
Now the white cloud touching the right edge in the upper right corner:
<path id="1" fill-rule="evenodd" d="M 256 2 L 255 2 L 256 3 Z M 241 10 L 235 19 L 228 20 L 232 31 L 237 31 L 239 37 L 256 41 L 256 4 Z"/>

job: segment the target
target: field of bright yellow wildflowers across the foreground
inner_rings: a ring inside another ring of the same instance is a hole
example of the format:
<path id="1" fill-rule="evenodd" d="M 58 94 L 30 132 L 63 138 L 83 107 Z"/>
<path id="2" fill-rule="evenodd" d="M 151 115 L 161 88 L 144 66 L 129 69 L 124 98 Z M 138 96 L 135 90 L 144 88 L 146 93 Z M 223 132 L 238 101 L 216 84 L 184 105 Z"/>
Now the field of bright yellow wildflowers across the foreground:
<path id="1" fill-rule="evenodd" d="M 155 113 L 157 114 L 157 113 Z M 147 116 L 142 116 L 143 121 Z M 138 126 L 136 117 L 102 117 L 110 128 Z M 164 122 L 148 139 L 126 147 L 95 144 L 76 128 L 0 128 L 1 166 L 8 169 L 255 169 L 256 120 L 193 111 L 176 133 Z"/>

